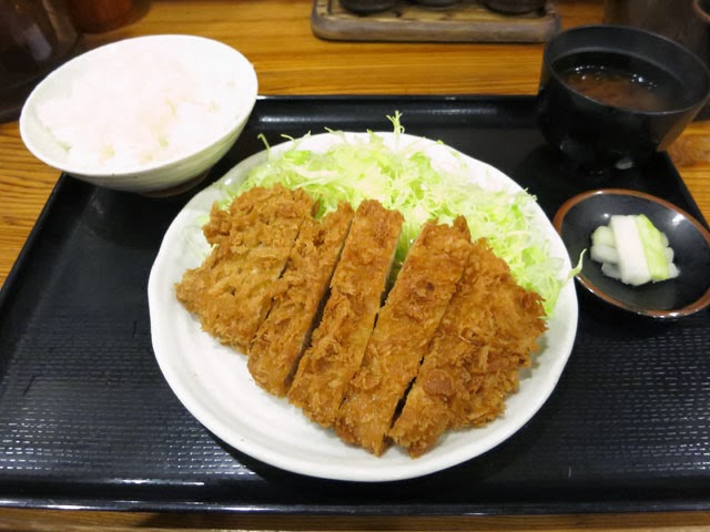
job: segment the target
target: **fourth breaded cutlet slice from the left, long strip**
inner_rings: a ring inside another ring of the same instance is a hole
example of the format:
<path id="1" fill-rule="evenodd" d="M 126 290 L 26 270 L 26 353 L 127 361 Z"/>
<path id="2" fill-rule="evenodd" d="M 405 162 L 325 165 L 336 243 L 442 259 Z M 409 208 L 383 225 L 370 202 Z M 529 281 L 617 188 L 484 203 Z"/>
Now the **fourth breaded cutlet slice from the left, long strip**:
<path id="1" fill-rule="evenodd" d="M 426 223 L 377 318 L 363 365 L 335 423 L 337 434 L 379 456 L 395 411 L 463 275 L 470 246 L 466 219 Z"/>

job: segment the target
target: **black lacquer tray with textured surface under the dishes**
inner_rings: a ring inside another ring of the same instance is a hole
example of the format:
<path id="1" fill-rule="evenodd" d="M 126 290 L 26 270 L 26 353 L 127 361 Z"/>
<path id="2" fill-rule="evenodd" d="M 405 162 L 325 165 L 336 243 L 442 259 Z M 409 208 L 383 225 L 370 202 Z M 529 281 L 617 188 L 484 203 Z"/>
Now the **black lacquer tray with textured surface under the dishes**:
<path id="1" fill-rule="evenodd" d="M 324 127 L 440 139 L 537 195 L 551 217 L 600 186 L 702 219 L 670 160 L 606 176 L 546 146 L 532 98 L 264 98 L 203 185 L 264 134 Z M 62 176 L 0 293 L 0 505 L 276 514 L 534 514 L 710 509 L 710 314 L 636 320 L 580 294 L 577 341 L 547 403 L 469 462 L 389 483 L 325 481 L 219 441 L 178 401 L 151 348 L 146 283 L 196 192 L 118 193 Z"/>

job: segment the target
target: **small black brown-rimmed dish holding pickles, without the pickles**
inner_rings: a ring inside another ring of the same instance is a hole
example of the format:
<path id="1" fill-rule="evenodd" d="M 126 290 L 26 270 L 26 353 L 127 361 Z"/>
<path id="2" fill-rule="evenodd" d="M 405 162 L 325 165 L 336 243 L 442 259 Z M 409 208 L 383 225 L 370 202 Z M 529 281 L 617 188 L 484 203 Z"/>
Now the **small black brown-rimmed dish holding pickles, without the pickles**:
<path id="1" fill-rule="evenodd" d="M 591 233 L 608 225 L 615 214 L 645 214 L 668 236 L 680 275 L 642 286 L 625 285 L 607 277 L 589 258 Z M 642 192 L 601 188 L 578 194 L 552 219 L 572 263 L 582 252 L 577 282 L 591 295 L 621 310 L 659 320 L 694 314 L 710 304 L 710 233 L 697 219 L 671 203 Z"/>

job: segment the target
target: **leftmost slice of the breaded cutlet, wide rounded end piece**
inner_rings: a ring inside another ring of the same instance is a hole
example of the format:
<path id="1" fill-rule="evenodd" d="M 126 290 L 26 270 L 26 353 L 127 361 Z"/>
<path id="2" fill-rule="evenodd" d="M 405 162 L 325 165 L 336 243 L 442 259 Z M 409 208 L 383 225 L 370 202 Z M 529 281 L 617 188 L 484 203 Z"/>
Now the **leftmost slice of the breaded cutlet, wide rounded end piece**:
<path id="1" fill-rule="evenodd" d="M 302 190 L 283 186 L 251 188 L 229 211 L 213 205 L 203 229 L 213 249 L 175 286 L 178 299 L 199 317 L 206 332 L 248 352 L 271 307 L 273 284 L 301 225 L 316 207 Z"/>

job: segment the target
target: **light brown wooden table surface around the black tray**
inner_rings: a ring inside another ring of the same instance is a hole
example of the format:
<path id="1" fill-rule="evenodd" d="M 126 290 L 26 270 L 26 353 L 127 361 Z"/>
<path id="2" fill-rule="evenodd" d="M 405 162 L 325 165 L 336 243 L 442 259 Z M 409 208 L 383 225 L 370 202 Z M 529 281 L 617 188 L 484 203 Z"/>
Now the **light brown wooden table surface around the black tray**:
<path id="1" fill-rule="evenodd" d="M 557 0 L 562 28 L 601 21 L 601 0 Z M 233 45 L 254 64 L 260 93 L 535 94 L 542 45 L 387 43 L 318 39 L 312 0 L 153 0 L 112 32 L 85 35 L 94 47 L 152 33 L 192 33 Z M 710 218 L 710 122 L 693 122 L 669 150 Z M 59 174 L 24 147 L 17 122 L 0 124 L 0 285 L 24 245 Z M 710 513 L 623 515 L 278 518 L 163 515 L 67 510 L 0 510 L 0 530 L 700 530 Z"/>

